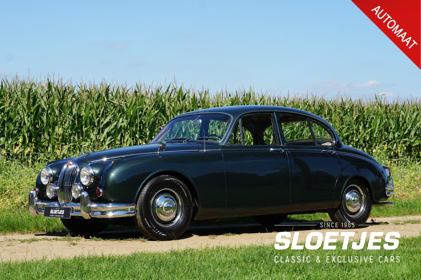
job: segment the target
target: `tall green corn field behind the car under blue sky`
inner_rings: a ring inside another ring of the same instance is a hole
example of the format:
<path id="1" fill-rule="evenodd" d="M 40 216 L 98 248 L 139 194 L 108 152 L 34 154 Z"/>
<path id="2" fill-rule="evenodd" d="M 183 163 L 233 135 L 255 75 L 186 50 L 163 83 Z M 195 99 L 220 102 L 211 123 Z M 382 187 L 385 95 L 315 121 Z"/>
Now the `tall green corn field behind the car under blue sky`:
<path id="1" fill-rule="evenodd" d="M 279 105 L 320 115 L 344 144 L 385 159 L 421 159 L 421 100 L 381 97 L 268 95 L 217 92 L 170 84 L 73 85 L 32 79 L 0 83 L 0 154 L 69 157 L 82 151 L 148 143 L 172 117 L 229 105 Z"/>

